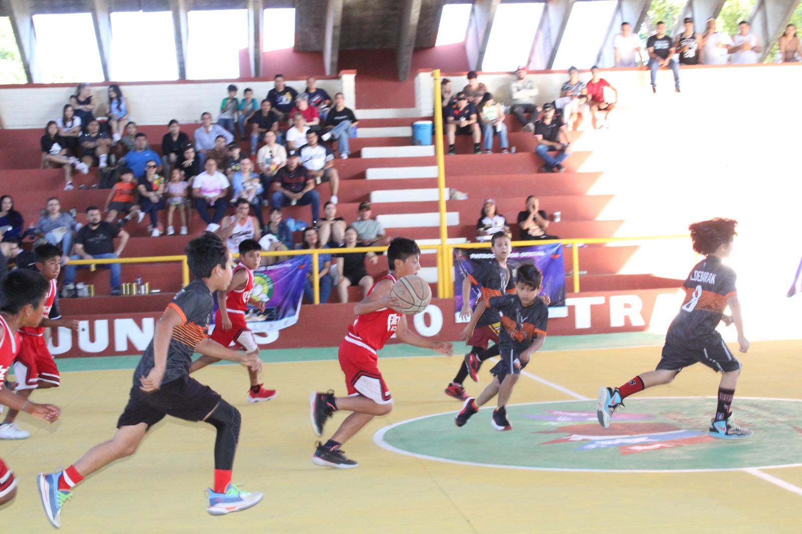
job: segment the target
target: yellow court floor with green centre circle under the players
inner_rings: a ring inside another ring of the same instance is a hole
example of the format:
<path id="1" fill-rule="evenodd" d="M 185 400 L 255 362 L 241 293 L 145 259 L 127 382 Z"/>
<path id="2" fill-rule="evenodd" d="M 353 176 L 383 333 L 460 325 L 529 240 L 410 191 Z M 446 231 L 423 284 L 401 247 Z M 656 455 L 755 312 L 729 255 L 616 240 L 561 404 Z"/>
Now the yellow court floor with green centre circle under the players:
<path id="1" fill-rule="evenodd" d="M 718 378 L 699 365 L 670 386 L 627 399 L 614 419 L 620 426 L 611 427 L 618 430 L 599 434 L 588 418 L 598 387 L 652 369 L 659 347 L 537 354 L 513 393 L 512 403 L 521 406 L 510 407 L 509 432 L 494 431 L 486 410 L 461 429 L 453 413 L 436 415 L 461 406 L 443 393 L 460 357 L 387 358 L 380 366 L 395 409 L 343 447 L 360 463 L 352 470 L 310 462 L 316 438 L 309 392 L 345 392 L 335 359 L 265 365 L 265 386 L 279 394 L 262 404 L 245 401 L 244 368 L 213 366 L 196 378 L 240 409 L 234 481 L 264 492 L 261 504 L 207 515 L 213 428 L 165 419 L 136 455 L 75 488 L 61 530 L 798 534 L 802 467 L 793 466 L 802 466 L 800 350 L 800 341 L 756 342 L 743 355 L 733 411 L 755 436 L 738 443 L 705 437 L 715 399 L 699 397 L 715 395 Z M 327 351 L 334 357 L 335 350 Z M 479 384 L 466 384 L 470 394 L 489 381 L 488 369 Z M 0 508 L 0 532 L 51 531 L 36 474 L 67 467 L 111 437 L 131 379 L 130 369 L 67 372 L 59 390 L 34 394 L 58 404 L 63 415 L 51 426 L 23 416 L 19 424 L 32 431 L 30 439 L 0 442 L 0 457 L 18 477 L 17 499 Z M 334 415 L 324 438 L 342 418 Z M 403 424 L 385 428 L 395 423 Z M 792 467 L 772 467 L 778 465 Z"/>

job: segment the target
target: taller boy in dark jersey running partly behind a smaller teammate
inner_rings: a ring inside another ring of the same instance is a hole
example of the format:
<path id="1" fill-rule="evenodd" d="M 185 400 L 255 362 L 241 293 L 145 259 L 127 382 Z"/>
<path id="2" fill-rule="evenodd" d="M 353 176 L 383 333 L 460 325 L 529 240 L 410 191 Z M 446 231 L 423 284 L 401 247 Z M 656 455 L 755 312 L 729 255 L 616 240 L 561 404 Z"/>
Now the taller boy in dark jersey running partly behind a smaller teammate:
<path id="1" fill-rule="evenodd" d="M 480 296 L 476 299 L 476 309 L 482 301 L 490 297 L 499 297 L 504 293 L 515 293 L 515 283 L 513 274 L 517 265 L 507 263 L 507 258 L 512 252 L 509 236 L 503 232 L 496 232 L 490 240 L 490 250 L 496 255 L 495 259 L 483 261 L 474 273 L 469 273 L 462 281 L 462 310 L 460 318 L 471 317 L 471 286 L 480 286 Z M 488 358 L 499 355 L 499 330 L 501 318 L 497 309 L 488 309 L 479 322 L 476 323 L 476 330 L 468 340 L 471 351 L 465 354 L 464 362 L 460 362 L 460 370 L 457 371 L 454 380 L 448 384 L 445 393 L 449 397 L 465 400 L 465 388 L 462 386 L 468 374 L 474 382 L 478 382 L 479 368 L 482 362 Z M 494 345 L 488 349 L 490 342 Z"/>

